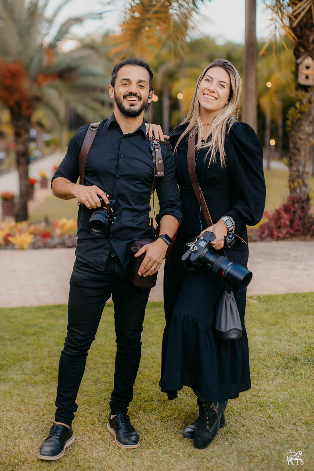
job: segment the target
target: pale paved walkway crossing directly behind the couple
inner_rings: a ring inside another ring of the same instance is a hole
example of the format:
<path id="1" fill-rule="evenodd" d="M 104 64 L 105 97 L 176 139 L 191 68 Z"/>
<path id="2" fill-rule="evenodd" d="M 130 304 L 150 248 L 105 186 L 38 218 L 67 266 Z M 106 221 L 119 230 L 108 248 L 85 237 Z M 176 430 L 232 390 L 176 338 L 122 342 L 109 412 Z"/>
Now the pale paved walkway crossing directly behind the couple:
<path id="1" fill-rule="evenodd" d="M 0 251 L 0 307 L 67 303 L 74 249 Z M 252 242 L 248 295 L 314 291 L 313 242 Z M 162 300 L 162 269 L 151 301 Z"/>

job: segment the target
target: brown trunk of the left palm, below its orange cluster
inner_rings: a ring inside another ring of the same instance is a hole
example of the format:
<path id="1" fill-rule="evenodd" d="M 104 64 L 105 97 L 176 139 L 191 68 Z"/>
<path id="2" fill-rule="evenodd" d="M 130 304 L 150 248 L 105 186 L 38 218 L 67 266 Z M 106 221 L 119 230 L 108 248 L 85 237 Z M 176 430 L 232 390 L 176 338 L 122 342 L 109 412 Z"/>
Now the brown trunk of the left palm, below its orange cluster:
<path id="1" fill-rule="evenodd" d="M 16 222 L 28 219 L 27 201 L 29 194 L 28 183 L 28 146 L 31 120 L 29 117 L 15 114 L 11 110 L 11 122 L 14 129 L 16 144 L 16 164 L 20 179 L 20 197 L 16 211 Z"/>

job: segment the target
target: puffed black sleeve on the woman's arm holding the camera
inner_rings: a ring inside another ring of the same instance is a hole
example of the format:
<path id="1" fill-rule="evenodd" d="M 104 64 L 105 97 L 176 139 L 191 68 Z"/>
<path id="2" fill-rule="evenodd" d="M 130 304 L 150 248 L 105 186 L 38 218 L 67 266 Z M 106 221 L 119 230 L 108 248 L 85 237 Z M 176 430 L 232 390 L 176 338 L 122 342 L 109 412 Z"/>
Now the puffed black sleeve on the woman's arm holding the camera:
<path id="1" fill-rule="evenodd" d="M 266 187 L 262 146 L 248 124 L 233 124 L 227 139 L 226 157 L 236 198 L 226 216 L 234 219 L 236 227 L 255 226 L 263 216 Z"/>

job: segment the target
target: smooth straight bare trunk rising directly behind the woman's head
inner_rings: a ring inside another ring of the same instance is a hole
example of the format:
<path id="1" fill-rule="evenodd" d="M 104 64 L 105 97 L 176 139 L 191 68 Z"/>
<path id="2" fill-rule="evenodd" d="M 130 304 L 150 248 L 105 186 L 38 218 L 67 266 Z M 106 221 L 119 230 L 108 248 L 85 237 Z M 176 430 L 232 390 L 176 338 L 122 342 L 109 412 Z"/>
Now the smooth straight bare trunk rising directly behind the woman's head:
<path id="1" fill-rule="evenodd" d="M 242 121 L 257 132 L 257 44 L 256 0 L 245 0 L 245 42 L 243 49 Z"/>

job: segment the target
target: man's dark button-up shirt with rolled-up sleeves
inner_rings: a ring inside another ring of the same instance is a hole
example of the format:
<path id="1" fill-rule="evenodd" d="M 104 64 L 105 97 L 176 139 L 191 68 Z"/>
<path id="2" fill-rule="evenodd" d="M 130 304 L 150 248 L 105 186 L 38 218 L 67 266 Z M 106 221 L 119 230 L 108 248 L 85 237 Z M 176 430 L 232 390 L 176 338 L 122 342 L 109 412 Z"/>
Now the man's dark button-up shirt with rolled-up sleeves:
<path id="1" fill-rule="evenodd" d="M 82 126 L 69 141 L 63 161 L 52 181 L 64 177 L 73 183 L 79 178 L 79 155 L 89 125 Z M 105 269 L 111 246 L 125 268 L 130 256 L 130 246 L 135 239 L 150 238 L 149 219 L 150 193 L 153 183 L 153 154 L 146 136 L 143 121 L 136 131 L 124 134 L 114 115 L 100 123 L 93 144 L 90 147 L 85 171 L 85 185 L 96 185 L 118 203 L 113 224 L 108 233 L 94 235 L 89 232 L 88 223 L 92 210 L 82 206 L 76 246 L 76 258 L 98 270 Z M 170 214 L 181 223 L 182 212 L 177 181 L 175 160 L 168 146 L 161 145 L 164 161 L 162 178 L 155 179 L 160 212 Z"/>

